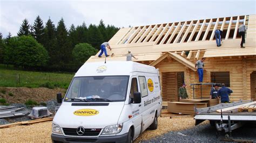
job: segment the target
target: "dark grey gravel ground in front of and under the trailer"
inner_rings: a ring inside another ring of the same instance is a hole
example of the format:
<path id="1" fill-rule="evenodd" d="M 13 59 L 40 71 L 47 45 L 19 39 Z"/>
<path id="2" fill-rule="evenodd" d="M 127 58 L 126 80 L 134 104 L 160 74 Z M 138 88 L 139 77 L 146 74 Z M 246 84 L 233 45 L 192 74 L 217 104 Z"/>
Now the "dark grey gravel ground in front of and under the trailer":
<path id="1" fill-rule="evenodd" d="M 160 137 L 142 142 L 221 142 L 224 133 L 216 136 L 215 128 L 210 124 L 194 126 L 188 130 L 171 131 Z M 233 139 L 253 140 L 256 142 L 255 126 L 245 125 L 232 132 Z"/>

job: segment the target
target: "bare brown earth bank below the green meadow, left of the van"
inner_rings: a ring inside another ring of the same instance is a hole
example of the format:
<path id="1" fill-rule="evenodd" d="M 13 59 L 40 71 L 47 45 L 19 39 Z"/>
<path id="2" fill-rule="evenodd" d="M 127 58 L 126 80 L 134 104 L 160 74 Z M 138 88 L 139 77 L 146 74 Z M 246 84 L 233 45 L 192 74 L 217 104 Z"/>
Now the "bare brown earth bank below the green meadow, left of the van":
<path id="1" fill-rule="evenodd" d="M 5 91 L 5 94 L 2 91 Z M 64 96 L 65 89 L 49 89 L 49 88 L 0 88 L 0 98 L 5 98 L 6 103 L 25 103 L 28 99 L 32 99 L 37 103 L 56 99 L 56 94 L 61 92 Z M 13 96 L 10 96 L 12 93 Z"/>

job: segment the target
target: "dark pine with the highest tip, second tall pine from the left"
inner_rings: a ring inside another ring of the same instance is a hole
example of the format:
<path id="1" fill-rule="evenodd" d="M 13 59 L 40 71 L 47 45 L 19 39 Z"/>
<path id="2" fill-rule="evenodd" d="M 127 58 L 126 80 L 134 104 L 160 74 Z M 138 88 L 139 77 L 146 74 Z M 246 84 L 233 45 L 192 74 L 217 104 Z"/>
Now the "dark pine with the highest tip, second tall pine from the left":
<path id="1" fill-rule="evenodd" d="M 43 34 L 44 34 L 43 20 L 39 16 L 37 16 L 33 24 L 33 37 L 35 37 L 35 39 L 39 43 L 43 44 Z"/>

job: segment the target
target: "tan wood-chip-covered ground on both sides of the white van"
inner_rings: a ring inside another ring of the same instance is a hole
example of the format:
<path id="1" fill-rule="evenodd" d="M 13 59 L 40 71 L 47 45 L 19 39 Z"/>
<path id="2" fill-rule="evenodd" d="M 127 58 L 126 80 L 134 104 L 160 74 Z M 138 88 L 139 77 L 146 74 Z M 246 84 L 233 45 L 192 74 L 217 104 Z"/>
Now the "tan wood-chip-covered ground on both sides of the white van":
<path id="1" fill-rule="evenodd" d="M 14 126 L 0 129 L 1 142 L 51 142 L 51 121 L 28 126 Z M 157 137 L 169 131 L 179 131 L 194 126 L 194 119 L 168 117 L 158 118 L 157 130 L 146 130 L 136 142 Z"/>

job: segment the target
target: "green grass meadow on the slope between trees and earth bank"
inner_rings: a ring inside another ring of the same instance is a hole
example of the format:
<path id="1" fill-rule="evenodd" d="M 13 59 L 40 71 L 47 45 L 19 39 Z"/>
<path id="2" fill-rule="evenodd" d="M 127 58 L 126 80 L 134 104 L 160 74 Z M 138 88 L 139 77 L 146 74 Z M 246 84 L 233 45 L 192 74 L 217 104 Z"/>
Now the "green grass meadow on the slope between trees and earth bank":
<path id="1" fill-rule="evenodd" d="M 0 65 L 0 87 L 65 88 L 69 87 L 74 74 L 46 73 L 39 71 L 15 70 L 14 67 Z M 2 92 L 2 91 L 1 91 Z"/>

